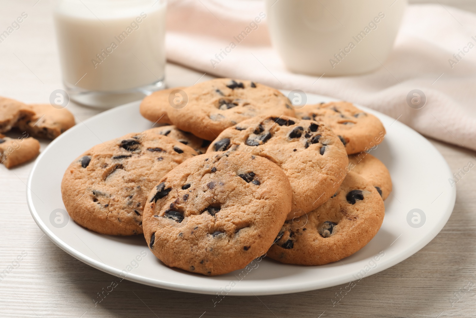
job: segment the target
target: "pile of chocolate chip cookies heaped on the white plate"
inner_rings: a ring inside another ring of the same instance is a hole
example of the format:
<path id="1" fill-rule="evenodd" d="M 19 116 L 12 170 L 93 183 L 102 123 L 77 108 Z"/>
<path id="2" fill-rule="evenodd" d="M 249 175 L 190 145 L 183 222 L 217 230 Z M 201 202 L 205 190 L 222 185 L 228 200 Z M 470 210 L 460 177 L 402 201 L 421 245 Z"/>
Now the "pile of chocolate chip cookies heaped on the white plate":
<path id="1" fill-rule="evenodd" d="M 166 126 L 99 144 L 70 164 L 61 191 L 78 224 L 143 234 L 164 264 L 208 276 L 265 254 L 323 265 L 377 234 L 392 188 L 385 165 L 367 154 L 385 136 L 377 117 L 344 102 L 297 110 L 250 81 L 182 87 L 185 107 L 170 102 L 174 91 L 140 106 Z"/>

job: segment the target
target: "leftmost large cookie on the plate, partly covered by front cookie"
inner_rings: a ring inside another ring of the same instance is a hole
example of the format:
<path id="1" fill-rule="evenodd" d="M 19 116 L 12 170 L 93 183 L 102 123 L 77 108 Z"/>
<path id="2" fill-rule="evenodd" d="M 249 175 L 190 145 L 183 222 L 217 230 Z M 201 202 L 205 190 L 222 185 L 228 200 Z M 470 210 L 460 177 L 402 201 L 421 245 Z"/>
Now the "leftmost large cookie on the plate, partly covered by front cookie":
<path id="1" fill-rule="evenodd" d="M 61 182 L 64 205 L 79 225 L 98 233 L 142 233 L 150 189 L 172 168 L 196 155 L 192 148 L 153 133 L 129 133 L 79 156 Z"/>

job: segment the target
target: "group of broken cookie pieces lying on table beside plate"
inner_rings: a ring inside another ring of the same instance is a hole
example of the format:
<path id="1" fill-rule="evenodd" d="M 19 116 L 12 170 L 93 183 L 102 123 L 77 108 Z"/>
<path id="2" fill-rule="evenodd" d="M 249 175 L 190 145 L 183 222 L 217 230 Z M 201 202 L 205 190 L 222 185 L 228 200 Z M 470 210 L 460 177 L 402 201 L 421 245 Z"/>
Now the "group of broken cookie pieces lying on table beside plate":
<path id="1" fill-rule="evenodd" d="M 74 117 L 67 109 L 50 104 L 24 104 L 0 96 L 0 162 L 7 168 L 27 162 L 40 153 L 37 138 L 55 139 L 74 126 Z M 16 129 L 19 138 L 2 133 Z M 30 137 L 33 136 L 33 137 Z"/>

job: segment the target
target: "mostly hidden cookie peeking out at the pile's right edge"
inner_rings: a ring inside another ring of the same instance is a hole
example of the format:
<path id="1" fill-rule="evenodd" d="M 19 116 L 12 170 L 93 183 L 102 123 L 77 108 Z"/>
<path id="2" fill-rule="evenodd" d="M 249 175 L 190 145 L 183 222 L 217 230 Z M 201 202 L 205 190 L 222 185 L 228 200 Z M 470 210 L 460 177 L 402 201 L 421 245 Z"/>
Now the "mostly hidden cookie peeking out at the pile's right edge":
<path id="1" fill-rule="evenodd" d="M 387 199 L 392 192 L 392 178 L 387 167 L 373 155 L 365 152 L 349 155 L 349 170 L 366 178 L 382 199 Z"/>

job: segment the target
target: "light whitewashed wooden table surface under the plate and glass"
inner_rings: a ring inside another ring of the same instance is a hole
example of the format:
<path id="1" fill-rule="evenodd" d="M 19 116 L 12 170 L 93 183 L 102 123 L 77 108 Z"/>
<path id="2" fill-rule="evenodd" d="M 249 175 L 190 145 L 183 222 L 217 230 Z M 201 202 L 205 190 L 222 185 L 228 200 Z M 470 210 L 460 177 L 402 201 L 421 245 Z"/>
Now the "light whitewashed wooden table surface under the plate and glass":
<path id="1" fill-rule="evenodd" d="M 0 2 L 0 31 L 22 12 L 28 18 L 0 43 L 0 95 L 47 103 L 62 88 L 49 0 Z M 36 3 L 36 4 L 35 4 Z M 203 73 L 167 65 L 169 86 L 190 85 Z M 200 81 L 208 80 L 208 74 Z M 76 121 L 98 110 L 70 103 Z M 457 172 L 476 163 L 475 152 L 430 140 Z M 42 149 L 48 144 L 42 141 Z M 338 304 L 347 284 L 309 292 L 259 297 L 213 297 L 122 281 L 95 305 L 115 277 L 69 256 L 33 221 L 25 189 L 32 163 L 0 164 L 0 317 L 475 317 L 476 170 L 457 184 L 448 223 L 427 246 L 383 272 L 363 278 Z M 15 261 L 20 256 L 21 261 Z M 342 289 L 341 289 L 342 288 Z"/>

